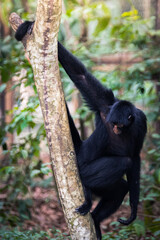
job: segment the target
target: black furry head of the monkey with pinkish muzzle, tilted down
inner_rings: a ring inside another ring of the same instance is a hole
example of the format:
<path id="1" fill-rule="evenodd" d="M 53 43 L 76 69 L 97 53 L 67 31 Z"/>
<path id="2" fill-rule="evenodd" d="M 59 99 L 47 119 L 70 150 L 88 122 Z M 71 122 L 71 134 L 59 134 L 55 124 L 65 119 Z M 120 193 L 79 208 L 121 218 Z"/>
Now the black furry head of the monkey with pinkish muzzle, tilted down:
<path id="1" fill-rule="evenodd" d="M 135 107 L 127 101 L 118 101 L 110 107 L 106 121 L 116 135 L 126 132 L 135 119 Z"/>

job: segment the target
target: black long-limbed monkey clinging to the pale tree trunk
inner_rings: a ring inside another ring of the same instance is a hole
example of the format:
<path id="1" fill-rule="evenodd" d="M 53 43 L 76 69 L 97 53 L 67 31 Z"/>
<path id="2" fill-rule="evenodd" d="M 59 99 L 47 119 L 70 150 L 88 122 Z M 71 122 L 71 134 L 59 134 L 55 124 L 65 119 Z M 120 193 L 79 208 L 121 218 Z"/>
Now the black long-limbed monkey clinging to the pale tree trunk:
<path id="1" fill-rule="evenodd" d="M 16 32 L 21 41 L 31 32 L 34 22 L 26 21 Z M 85 192 L 85 203 L 76 209 L 82 215 L 91 209 L 91 194 L 101 200 L 93 210 L 97 239 L 101 239 L 100 222 L 114 213 L 129 191 L 131 215 L 135 220 L 139 201 L 140 151 L 147 132 L 146 116 L 132 103 L 114 97 L 92 76 L 84 65 L 58 42 L 58 59 L 70 79 L 80 90 L 91 110 L 96 114 L 96 129 L 85 141 L 80 139 L 67 108 L 69 124 L 78 168 Z M 127 181 L 123 175 L 127 175 Z"/>

